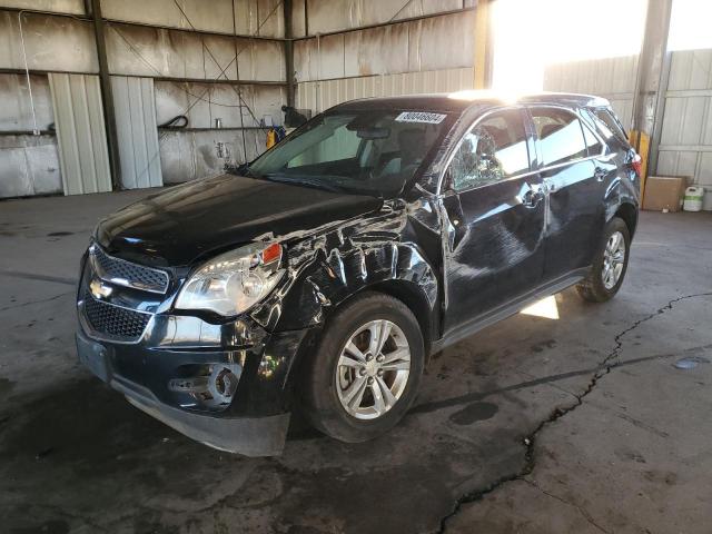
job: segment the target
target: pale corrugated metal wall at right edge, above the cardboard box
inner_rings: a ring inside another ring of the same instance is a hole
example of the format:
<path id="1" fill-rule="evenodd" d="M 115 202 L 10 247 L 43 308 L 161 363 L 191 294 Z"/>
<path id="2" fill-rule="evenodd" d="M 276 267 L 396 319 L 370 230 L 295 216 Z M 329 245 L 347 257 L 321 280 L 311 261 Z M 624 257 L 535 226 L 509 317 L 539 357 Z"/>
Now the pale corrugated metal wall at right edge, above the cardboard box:
<path id="1" fill-rule="evenodd" d="M 672 52 L 657 174 L 688 176 L 712 194 L 712 50 Z"/>

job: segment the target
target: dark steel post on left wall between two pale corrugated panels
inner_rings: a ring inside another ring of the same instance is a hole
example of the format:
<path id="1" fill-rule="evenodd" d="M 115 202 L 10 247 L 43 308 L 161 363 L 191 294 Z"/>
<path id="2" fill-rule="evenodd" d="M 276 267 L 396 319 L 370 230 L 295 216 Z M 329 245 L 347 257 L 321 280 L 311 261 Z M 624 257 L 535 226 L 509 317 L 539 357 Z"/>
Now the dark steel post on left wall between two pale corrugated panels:
<path id="1" fill-rule="evenodd" d="M 109 168 L 111 169 L 111 186 L 115 191 L 121 189 L 121 162 L 119 160 L 119 136 L 116 127 L 113 92 L 109 62 L 107 60 L 107 44 L 105 39 L 105 21 L 101 18 L 101 0 L 85 0 L 87 11 L 91 12 L 93 33 L 97 43 L 97 59 L 99 62 L 99 85 L 101 87 L 101 102 L 103 105 L 103 120 L 107 130 L 107 146 L 109 149 Z"/>

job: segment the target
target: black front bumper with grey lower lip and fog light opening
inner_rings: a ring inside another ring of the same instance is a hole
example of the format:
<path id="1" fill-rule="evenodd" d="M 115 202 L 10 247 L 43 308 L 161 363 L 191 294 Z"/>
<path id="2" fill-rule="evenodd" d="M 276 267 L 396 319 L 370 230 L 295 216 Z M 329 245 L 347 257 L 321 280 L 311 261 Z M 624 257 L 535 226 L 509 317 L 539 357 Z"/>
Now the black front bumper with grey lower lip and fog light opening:
<path id="1" fill-rule="evenodd" d="M 219 346 L 186 348 L 185 337 L 178 347 L 112 344 L 90 338 L 80 327 L 77 353 L 82 364 L 134 406 L 186 436 L 221 451 L 270 456 L 284 448 L 290 407 L 287 378 L 305 334 L 265 335 L 250 349 L 228 350 Z M 167 387 L 186 368 L 226 362 L 240 369 L 227 406 L 200 406 L 185 392 Z"/>

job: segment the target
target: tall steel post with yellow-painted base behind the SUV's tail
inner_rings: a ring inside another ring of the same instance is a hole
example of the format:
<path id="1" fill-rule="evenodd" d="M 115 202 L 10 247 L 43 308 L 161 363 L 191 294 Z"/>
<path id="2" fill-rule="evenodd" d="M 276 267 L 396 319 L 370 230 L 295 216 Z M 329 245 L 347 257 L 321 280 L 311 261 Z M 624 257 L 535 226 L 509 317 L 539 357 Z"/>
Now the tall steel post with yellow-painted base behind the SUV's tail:
<path id="1" fill-rule="evenodd" d="M 645 33 L 637 62 L 633 97 L 632 139 L 643 159 L 643 178 L 655 167 L 651 146 L 660 144 L 660 134 L 669 68 L 668 36 L 673 0 L 647 0 Z M 644 189 L 644 182 L 643 182 Z"/>

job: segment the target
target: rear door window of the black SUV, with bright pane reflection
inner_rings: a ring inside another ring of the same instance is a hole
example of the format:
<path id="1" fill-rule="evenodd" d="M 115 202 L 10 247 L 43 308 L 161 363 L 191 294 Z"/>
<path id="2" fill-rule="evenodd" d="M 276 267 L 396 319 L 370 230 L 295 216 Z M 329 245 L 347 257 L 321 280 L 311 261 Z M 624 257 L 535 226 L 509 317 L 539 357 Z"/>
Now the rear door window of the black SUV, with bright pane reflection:
<path id="1" fill-rule="evenodd" d="M 571 111 L 556 108 L 534 108 L 542 165 L 558 165 L 587 156 L 581 121 Z"/>

